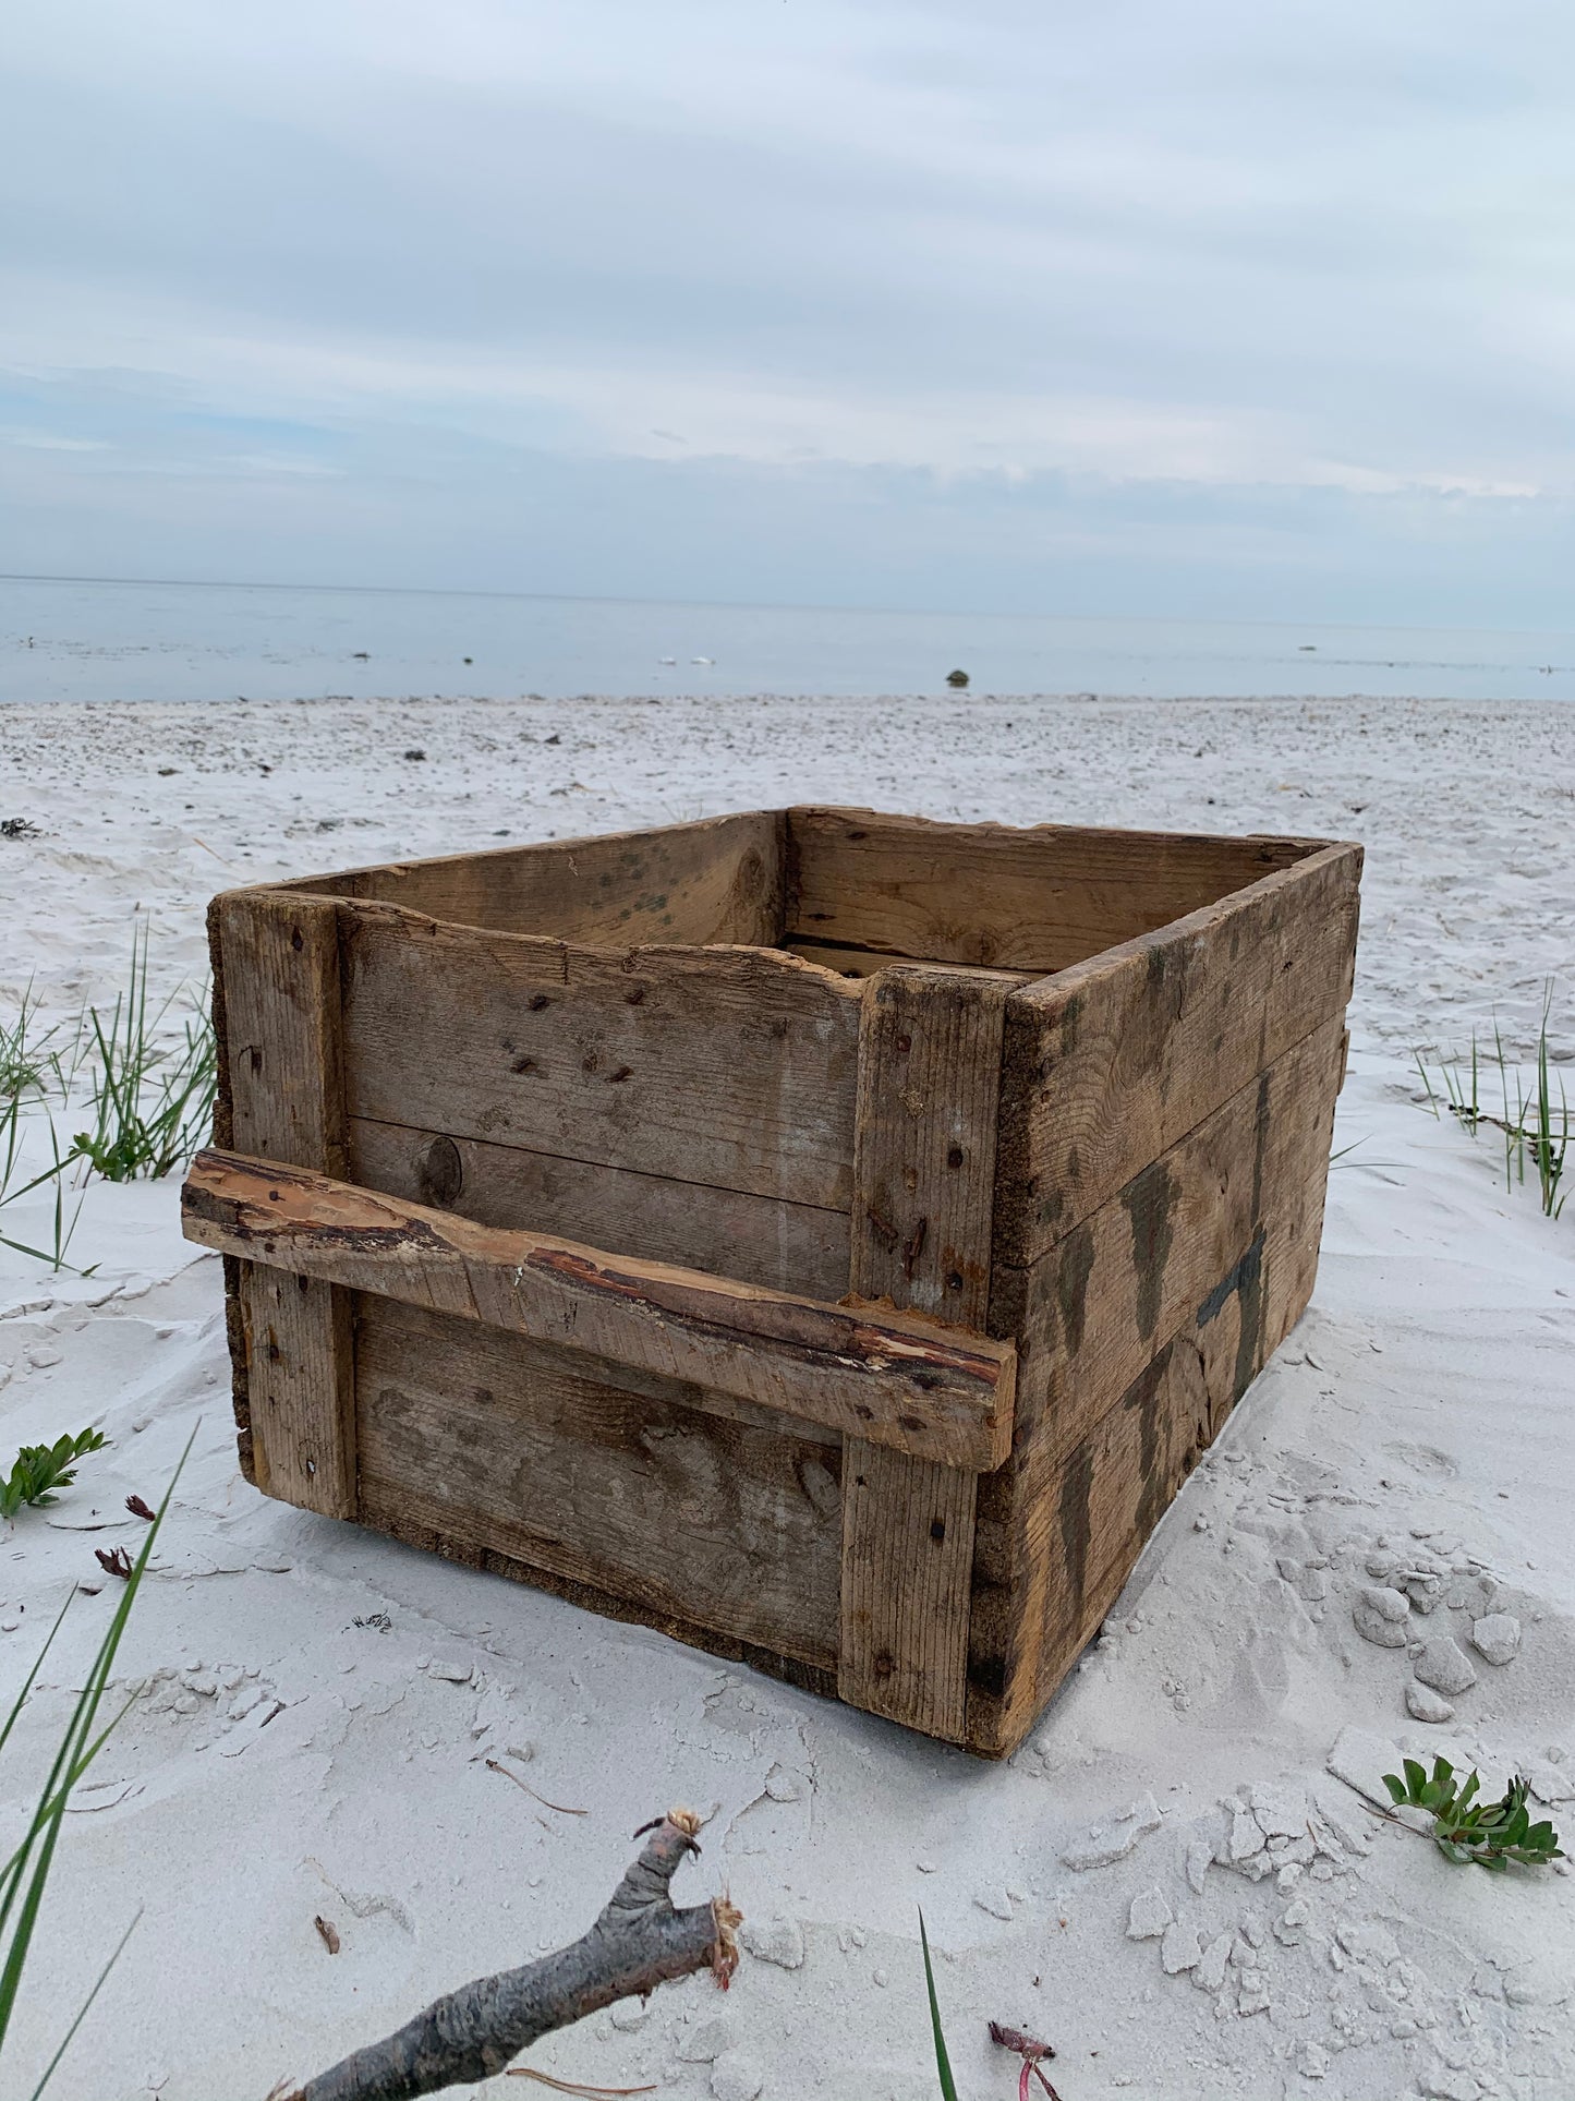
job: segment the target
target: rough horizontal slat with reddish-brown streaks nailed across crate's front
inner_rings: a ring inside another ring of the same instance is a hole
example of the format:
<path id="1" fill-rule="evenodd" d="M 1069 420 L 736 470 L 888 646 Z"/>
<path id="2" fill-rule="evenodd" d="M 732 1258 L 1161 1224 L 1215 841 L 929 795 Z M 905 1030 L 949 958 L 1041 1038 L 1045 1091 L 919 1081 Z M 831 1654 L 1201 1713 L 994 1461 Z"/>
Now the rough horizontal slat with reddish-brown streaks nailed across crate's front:
<path id="1" fill-rule="evenodd" d="M 932 1322 L 472 1225 L 237 1153 L 197 1153 L 183 1223 L 223 1254 L 588 1349 L 901 1452 L 981 1469 L 1010 1450 L 1012 1347 Z"/>

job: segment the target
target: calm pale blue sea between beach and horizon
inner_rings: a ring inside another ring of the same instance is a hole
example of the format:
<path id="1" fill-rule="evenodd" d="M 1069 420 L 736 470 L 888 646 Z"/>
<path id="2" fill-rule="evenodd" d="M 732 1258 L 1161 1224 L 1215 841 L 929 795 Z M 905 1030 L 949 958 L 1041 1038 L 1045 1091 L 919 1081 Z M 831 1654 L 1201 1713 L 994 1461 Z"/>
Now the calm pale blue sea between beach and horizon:
<path id="1" fill-rule="evenodd" d="M 0 702 L 540 693 L 1575 700 L 1575 632 L 0 578 Z"/>

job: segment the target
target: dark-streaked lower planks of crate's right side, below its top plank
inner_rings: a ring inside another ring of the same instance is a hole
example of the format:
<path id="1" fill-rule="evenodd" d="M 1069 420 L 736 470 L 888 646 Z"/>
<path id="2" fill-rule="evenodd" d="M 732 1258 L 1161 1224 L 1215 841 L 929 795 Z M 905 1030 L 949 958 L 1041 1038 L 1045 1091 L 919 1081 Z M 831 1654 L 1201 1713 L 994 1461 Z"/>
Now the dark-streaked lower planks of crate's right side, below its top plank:
<path id="1" fill-rule="evenodd" d="M 1208 1443 L 1306 1307 L 1342 1034 L 1336 1015 L 1294 1044 L 1027 1271 L 998 1265 L 991 1326 L 1018 1340 L 1016 1441 L 981 1481 L 972 1748 L 1021 1742 L 1193 1464 L 1199 1439 L 1176 1427 L 1155 1443 L 1153 1395 L 1132 1399 L 1151 1366 L 1163 1357 L 1155 1406 L 1201 1420 Z M 1136 1429 L 1121 1429 L 1128 1401 Z M 1111 1479 L 1119 1452 L 1136 1458 Z M 1094 1513 L 1084 1532 L 1065 1515 L 1077 1496 Z M 1130 1521 L 1111 1532 L 1119 1509 Z"/>

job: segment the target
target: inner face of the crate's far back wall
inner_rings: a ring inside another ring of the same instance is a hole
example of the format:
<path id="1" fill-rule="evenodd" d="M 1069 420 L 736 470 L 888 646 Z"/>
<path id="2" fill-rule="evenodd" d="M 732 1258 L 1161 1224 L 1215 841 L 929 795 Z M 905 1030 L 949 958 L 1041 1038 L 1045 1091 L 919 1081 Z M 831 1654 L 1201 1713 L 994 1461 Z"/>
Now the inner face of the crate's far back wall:
<path id="1" fill-rule="evenodd" d="M 790 809 L 788 937 L 1063 971 L 1319 845 Z"/>

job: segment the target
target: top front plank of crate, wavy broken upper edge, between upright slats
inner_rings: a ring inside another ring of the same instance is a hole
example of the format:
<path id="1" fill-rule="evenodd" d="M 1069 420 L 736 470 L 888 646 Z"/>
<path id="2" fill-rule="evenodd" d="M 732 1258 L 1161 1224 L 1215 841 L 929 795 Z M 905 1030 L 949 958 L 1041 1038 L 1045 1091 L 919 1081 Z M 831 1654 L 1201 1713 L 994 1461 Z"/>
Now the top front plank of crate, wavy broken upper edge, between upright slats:
<path id="1" fill-rule="evenodd" d="M 609 954 L 393 906 L 340 912 L 353 1116 L 848 1208 L 846 979 L 769 950 Z"/>

